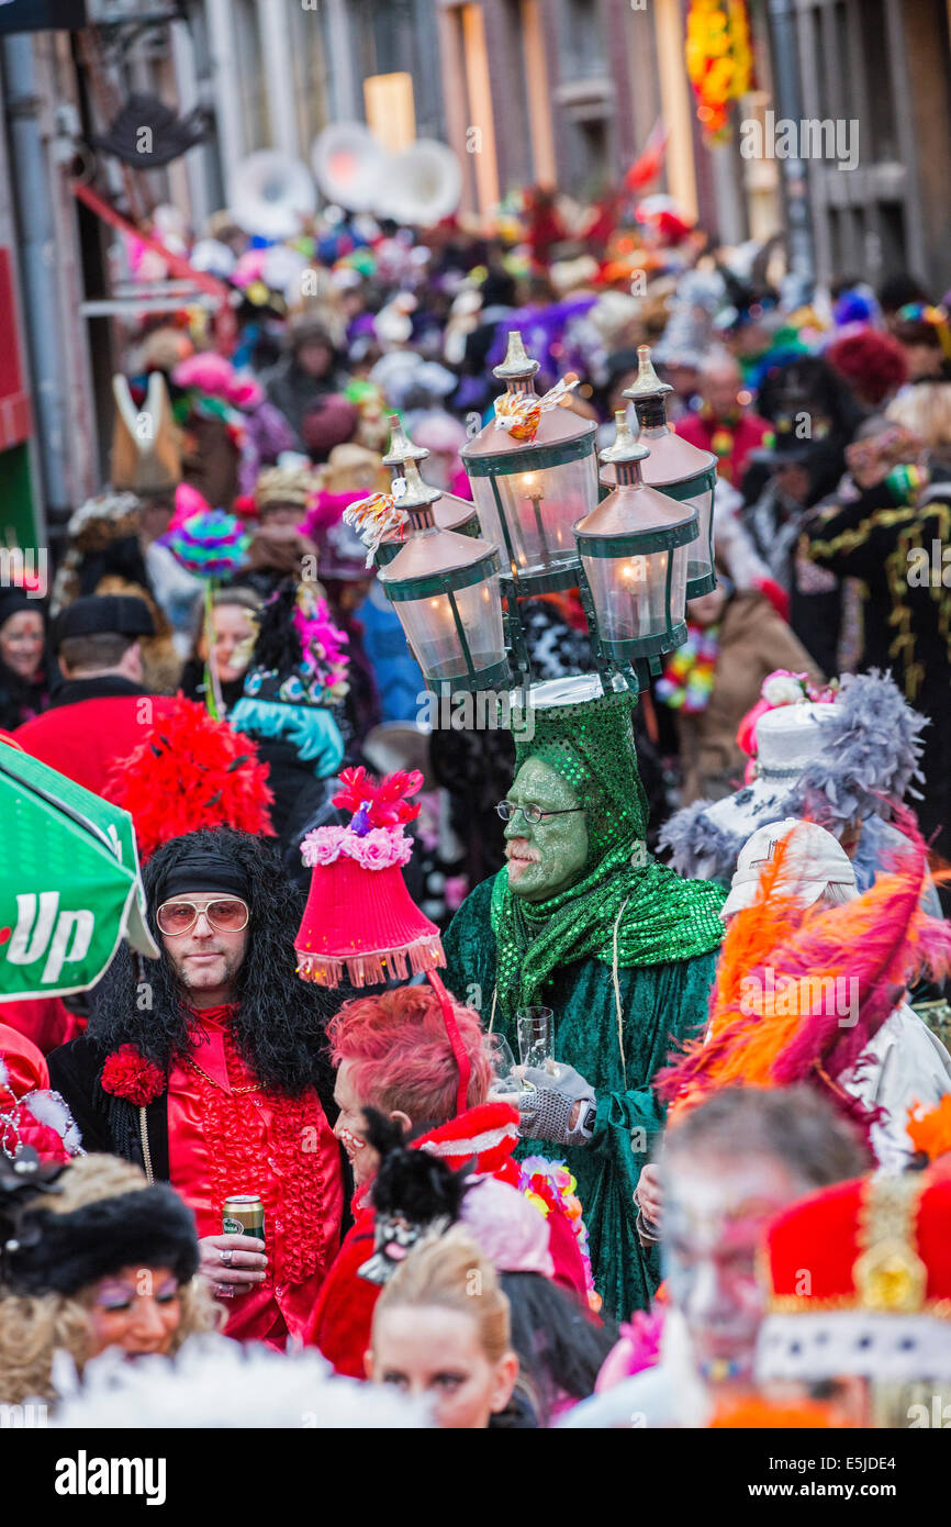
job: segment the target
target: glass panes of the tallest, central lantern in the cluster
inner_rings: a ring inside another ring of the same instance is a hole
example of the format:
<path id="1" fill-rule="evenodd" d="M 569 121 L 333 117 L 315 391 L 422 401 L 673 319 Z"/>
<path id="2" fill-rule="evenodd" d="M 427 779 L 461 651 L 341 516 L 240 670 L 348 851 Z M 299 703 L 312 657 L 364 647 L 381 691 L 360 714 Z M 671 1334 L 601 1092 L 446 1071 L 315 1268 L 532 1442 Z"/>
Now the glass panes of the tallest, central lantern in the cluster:
<path id="1" fill-rule="evenodd" d="M 577 567 L 579 548 L 571 527 L 597 504 L 598 478 L 594 455 L 536 472 L 511 472 L 496 478 L 473 476 L 470 481 L 482 536 L 499 548 L 504 567 L 513 563 L 513 576 L 557 573 Z M 508 541 L 499 519 L 496 489 Z"/>

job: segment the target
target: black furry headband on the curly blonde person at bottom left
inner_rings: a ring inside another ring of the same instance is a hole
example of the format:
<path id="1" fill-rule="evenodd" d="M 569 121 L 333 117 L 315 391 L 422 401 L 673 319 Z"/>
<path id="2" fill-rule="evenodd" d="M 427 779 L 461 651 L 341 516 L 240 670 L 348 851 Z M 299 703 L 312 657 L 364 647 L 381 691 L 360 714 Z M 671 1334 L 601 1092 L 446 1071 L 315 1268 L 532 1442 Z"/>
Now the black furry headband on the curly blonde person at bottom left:
<path id="1" fill-rule="evenodd" d="M 179 1283 L 194 1277 L 195 1220 L 174 1188 L 153 1183 L 72 1214 L 27 1206 L 0 1245 L 0 1280 L 11 1293 L 69 1296 L 121 1267 L 169 1267 Z"/>

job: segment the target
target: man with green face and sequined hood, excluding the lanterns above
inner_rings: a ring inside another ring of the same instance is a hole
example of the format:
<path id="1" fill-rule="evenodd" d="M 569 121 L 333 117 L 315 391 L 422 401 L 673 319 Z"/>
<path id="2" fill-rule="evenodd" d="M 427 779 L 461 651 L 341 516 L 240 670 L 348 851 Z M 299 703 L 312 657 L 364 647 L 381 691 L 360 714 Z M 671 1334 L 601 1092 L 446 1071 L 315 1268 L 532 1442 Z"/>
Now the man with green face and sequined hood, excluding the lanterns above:
<path id="1" fill-rule="evenodd" d="M 724 892 L 681 880 L 646 847 L 633 698 L 537 709 L 516 734 L 504 803 L 507 864 L 467 896 L 444 938 L 447 983 L 516 1046 L 519 1008 L 554 1012 L 557 1078 L 522 1109 L 522 1148 L 557 1145 L 577 1177 L 595 1286 L 626 1318 L 658 1281 L 633 1190 L 662 1106 L 650 1080 L 678 1040 L 702 1035 Z"/>

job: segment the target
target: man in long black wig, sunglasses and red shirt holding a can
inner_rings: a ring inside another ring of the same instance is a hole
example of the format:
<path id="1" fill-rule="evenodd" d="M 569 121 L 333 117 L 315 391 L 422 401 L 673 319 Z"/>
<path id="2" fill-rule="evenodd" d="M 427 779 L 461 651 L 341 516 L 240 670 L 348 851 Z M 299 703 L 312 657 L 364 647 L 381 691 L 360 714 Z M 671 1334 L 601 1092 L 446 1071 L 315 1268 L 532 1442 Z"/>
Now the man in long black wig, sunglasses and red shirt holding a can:
<path id="1" fill-rule="evenodd" d="M 172 838 L 143 883 L 162 956 L 142 964 L 122 945 L 89 1034 L 49 1057 L 52 1084 L 87 1150 L 140 1164 L 191 1205 L 226 1333 L 282 1347 L 337 1252 L 343 1209 L 328 997 L 295 970 L 304 895 L 269 840 L 232 828 Z M 232 1194 L 263 1200 L 264 1248 L 223 1234 Z"/>

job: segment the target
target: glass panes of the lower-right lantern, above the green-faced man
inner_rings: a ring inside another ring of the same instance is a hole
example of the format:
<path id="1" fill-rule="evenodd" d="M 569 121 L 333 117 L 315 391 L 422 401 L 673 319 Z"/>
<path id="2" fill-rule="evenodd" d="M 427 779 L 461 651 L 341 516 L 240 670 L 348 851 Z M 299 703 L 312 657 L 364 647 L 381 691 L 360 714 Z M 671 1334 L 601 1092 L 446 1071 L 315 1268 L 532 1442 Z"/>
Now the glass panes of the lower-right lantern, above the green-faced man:
<path id="1" fill-rule="evenodd" d="M 687 551 L 650 551 L 640 557 L 583 556 L 591 585 L 598 631 L 606 641 L 643 641 L 662 637 L 669 625 L 684 618 L 687 597 Z M 670 611 L 667 611 L 667 562 Z"/>

